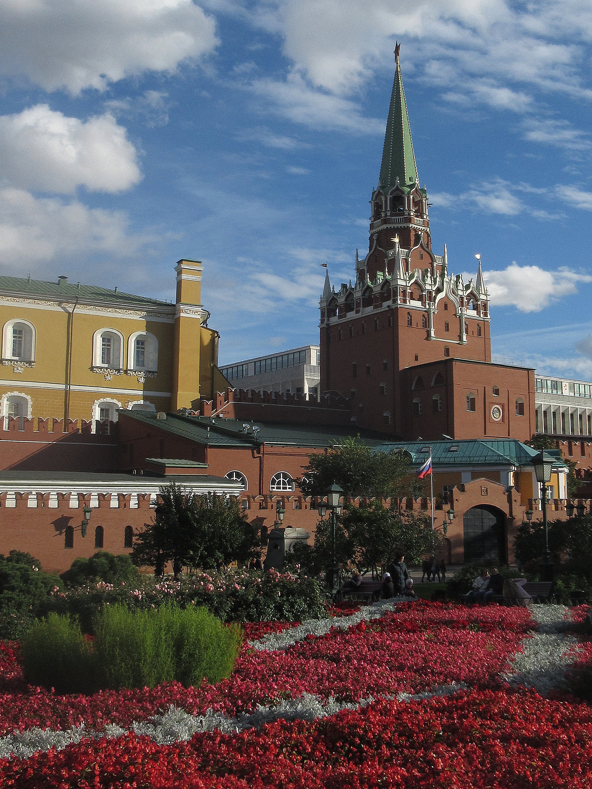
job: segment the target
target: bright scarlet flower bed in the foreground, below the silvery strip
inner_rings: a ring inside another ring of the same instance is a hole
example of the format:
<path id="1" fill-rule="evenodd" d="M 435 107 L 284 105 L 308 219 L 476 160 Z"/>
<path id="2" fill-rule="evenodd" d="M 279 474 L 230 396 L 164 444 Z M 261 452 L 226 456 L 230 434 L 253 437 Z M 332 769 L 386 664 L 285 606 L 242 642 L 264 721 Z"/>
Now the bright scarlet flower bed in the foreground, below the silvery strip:
<path id="1" fill-rule="evenodd" d="M 0 762 L 15 789 L 589 789 L 592 711 L 485 690 L 158 746 L 134 735 Z"/>

